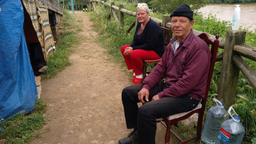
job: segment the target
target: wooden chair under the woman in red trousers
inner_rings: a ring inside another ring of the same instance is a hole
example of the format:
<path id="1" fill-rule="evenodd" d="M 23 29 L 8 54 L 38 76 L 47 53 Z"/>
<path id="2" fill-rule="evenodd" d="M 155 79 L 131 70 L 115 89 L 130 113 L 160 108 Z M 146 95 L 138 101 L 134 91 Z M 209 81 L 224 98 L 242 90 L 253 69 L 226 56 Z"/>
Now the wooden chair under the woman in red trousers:
<path id="1" fill-rule="evenodd" d="M 170 39 L 172 38 L 172 30 L 164 28 L 164 27 L 161 27 L 161 28 L 162 28 L 163 33 L 164 33 L 164 45 L 165 45 L 165 49 L 166 49 L 166 46 L 169 44 Z M 154 67 L 155 67 L 157 65 L 157 63 L 159 61 L 161 61 L 161 60 L 162 59 L 158 59 L 158 60 L 142 60 L 142 62 L 143 62 L 143 73 L 142 73 L 142 81 L 141 81 L 141 83 L 144 81 L 144 79 L 147 76 L 147 65 L 154 64 Z"/>

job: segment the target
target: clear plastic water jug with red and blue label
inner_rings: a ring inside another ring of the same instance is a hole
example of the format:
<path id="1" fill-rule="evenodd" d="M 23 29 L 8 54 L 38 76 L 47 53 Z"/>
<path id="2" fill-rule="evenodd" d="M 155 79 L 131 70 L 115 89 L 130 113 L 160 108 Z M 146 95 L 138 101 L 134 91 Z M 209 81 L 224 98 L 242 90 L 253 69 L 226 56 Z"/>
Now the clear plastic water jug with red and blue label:
<path id="1" fill-rule="evenodd" d="M 240 117 L 236 114 L 232 116 L 230 110 L 233 110 L 236 114 L 233 107 L 229 107 L 228 114 L 232 117 L 227 119 L 225 122 L 221 124 L 219 136 L 215 142 L 215 144 L 225 143 L 225 144 L 233 144 L 233 143 L 242 143 L 245 130 L 244 126 L 240 122 Z"/>

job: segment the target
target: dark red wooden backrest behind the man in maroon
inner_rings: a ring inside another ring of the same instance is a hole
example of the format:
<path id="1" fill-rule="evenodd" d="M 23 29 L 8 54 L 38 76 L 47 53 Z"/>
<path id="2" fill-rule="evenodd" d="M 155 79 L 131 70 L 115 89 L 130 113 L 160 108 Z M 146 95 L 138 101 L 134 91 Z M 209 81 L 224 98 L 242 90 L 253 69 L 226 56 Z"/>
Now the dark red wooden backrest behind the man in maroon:
<path id="1" fill-rule="evenodd" d="M 219 47 L 219 40 L 218 40 L 219 34 L 217 34 L 215 36 L 215 38 L 216 38 L 215 40 L 210 38 L 209 34 L 207 34 L 205 32 L 199 34 L 198 37 L 203 39 L 208 46 L 211 45 L 211 54 L 212 54 L 211 64 L 210 64 L 210 71 L 209 71 L 209 75 L 208 75 L 208 78 L 207 78 L 207 85 L 206 85 L 206 90 L 205 90 L 205 94 L 204 94 L 204 99 L 202 99 L 202 101 L 201 101 L 201 103 L 202 103 L 201 113 L 204 113 L 205 104 L 206 104 L 208 93 L 209 93 L 209 90 L 210 90 L 210 85 L 211 85 L 211 81 L 212 81 L 212 74 L 213 74 L 215 60 L 216 60 L 216 57 L 217 57 L 217 52 L 218 52 L 218 47 Z"/>

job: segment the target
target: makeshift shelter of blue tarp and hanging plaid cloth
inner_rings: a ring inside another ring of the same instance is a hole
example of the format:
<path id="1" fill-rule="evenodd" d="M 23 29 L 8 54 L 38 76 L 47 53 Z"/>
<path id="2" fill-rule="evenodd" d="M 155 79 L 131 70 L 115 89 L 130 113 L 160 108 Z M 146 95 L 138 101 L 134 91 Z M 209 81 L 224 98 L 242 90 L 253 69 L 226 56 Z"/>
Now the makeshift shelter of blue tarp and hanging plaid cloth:
<path id="1" fill-rule="evenodd" d="M 0 1 L 0 120 L 35 108 L 37 89 L 23 29 L 25 10 L 45 61 L 55 50 L 47 7 L 37 0 Z"/>

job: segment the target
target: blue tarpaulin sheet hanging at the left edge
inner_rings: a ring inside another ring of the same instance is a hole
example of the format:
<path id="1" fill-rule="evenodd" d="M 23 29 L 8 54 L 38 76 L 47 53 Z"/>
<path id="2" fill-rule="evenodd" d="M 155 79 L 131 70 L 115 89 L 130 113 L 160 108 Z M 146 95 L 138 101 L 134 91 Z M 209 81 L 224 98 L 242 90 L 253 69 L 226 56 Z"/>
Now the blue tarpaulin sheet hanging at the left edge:
<path id="1" fill-rule="evenodd" d="M 20 0 L 0 1 L 0 119 L 35 109 L 36 83 Z"/>

